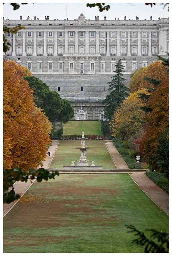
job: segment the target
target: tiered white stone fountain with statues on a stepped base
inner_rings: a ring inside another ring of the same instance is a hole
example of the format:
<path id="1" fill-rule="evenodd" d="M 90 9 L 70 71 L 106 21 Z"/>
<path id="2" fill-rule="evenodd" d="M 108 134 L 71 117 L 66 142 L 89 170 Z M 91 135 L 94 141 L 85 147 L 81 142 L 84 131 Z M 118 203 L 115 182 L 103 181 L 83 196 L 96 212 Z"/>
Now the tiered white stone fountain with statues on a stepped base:
<path id="1" fill-rule="evenodd" d="M 72 161 L 72 165 L 70 166 L 63 166 L 63 169 L 66 170 L 102 170 L 103 166 L 96 166 L 95 162 L 92 161 L 92 165 L 89 166 L 89 160 L 86 160 L 86 150 L 90 149 L 90 148 L 86 148 L 85 147 L 85 140 L 88 140 L 88 138 L 84 137 L 84 132 L 82 132 L 82 137 L 79 138 L 79 140 L 81 140 L 81 147 L 80 148 L 76 148 L 80 150 L 81 156 L 79 158 L 79 160 L 77 160 L 77 166 L 75 166 L 75 161 Z"/>

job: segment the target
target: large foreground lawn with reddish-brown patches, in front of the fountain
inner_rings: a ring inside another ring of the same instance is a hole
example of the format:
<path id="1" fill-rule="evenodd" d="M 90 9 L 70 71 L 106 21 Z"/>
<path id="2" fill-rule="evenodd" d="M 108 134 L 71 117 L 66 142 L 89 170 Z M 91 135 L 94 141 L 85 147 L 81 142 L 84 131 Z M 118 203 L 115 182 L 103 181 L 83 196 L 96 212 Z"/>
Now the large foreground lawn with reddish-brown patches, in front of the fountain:
<path id="1" fill-rule="evenodd" d="M 148 235 L 168 233 L 168 221 L 128 174 L 60 174 L 4 217 L 3 253 L 143 253 L 125 225 Z"/>

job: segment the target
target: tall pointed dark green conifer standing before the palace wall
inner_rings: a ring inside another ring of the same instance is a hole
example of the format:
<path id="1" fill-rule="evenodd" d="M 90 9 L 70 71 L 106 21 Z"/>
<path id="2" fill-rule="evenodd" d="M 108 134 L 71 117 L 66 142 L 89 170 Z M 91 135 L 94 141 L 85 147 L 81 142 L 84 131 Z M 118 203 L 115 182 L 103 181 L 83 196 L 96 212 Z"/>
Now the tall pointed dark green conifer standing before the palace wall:
<path id="1" fill-rule="evenodd" d="M 108 82 L 109 89 L 111 91 L 109 95 L 106 96 L 105 100 L 103 101 L 106 103 L 106 110 L 105 116 L 111 120 L 116 108 L 120 105 L 120 103 L 125 100 L 126 97 L 129 96 L 128 94 L 128 87 L 123 84 L 123 81 L 126 79 L 123 77 L 123 73 L 125 72 L 124 66 L 121 64 L 122 59 L 120 59 L 115 65 L 116 73 L 112 76 L 112 81 Z"/>

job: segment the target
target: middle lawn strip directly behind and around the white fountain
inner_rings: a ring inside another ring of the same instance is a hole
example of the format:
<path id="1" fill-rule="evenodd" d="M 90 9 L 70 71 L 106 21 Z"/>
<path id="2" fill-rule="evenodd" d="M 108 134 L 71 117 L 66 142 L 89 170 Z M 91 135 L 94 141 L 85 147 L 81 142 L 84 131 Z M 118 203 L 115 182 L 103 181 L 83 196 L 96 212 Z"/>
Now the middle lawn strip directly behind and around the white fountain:
<path id="1" fill-rule="evenodd" d="M 75 166 L 77 166 L 77 160 L 81 156 L 80 150 L 76 149 L 79 147 L 81 147 L 81 140 L 60 140 L 49 168 L 62 169 L 63 165 L 72 165 L 72 161 L 75 161 Z M 103 166 L 103 169 L 116 169 L 104 140 L 86 140 L 85 147 L 90 148 L 86 152 L 86 159 L 89 160 L 89 166 L 94 161 L 95 165 Z"/>

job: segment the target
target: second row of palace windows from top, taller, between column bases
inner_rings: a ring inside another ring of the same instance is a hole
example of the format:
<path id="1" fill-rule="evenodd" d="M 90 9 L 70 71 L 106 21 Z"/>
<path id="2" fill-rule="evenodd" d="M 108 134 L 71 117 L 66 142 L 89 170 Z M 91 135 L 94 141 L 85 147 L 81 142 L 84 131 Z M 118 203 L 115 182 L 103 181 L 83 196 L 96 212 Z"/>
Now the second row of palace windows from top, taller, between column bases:
<path id="1" fill-rule="evenodd" d="M 142 54 L 147 54 L 147 45 L 142 45 Z M 26 54 L 27 55 L 32 55 L 33 53 L 33 47 L 32 46 L 27 46 L 26 47 Z M 75 46 L 69 46 L 68 47 L 68 53 L 75 53 Z M 85 53 L 85 46 L 81 45 L 79 46 L 79 53 L 84 54 Z M 90 45 L 90 53 L 94 54 L 95 53 L 95 46 Z M 152 53 L 157 54 L 158 53 L 158 47 L 157 46 L 152 46 Z M 9 50 L 6 52 L 6 55 L 12 54 L 12 47 L 9 47 Z M 17 46 L 16 47 L 16 54 L 22 54 L 22 47 Z M 38 55 L 43 55 L 43 46 L 38 46 L 37 47 L 37 54 Z M 53 46 L 48 46 L 48 54 L 53 55 Z M 63 55 L 64 54 L 64 46 L 58 46 L 58 54 Z M 100 54 L 106 54 L 106 46 L 100 46 Z M 111 45 L 110 46 L 110 54 L 116 55 L 116 46 Z M 121 46 L 121 54 L 127 54 L 127 46 Z M 137 46 L 132 46 L 131 47 L 131 54 L 137 55 Z"/>

